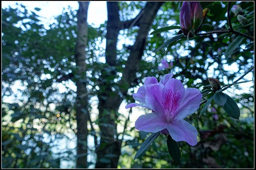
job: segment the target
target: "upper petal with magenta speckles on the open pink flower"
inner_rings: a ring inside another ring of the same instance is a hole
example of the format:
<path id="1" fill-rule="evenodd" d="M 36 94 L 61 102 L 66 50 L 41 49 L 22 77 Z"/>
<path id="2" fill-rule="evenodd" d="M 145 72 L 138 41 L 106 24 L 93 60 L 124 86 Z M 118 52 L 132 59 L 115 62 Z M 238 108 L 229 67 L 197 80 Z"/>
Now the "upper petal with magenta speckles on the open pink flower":
<path id="1" fill-rule="evenodd" d="M 185 94 L 185 88 L 180 80 L 170 79 L 163 88 L 163 110 L 167 120 L 173 119 L 177 108 Z"/>

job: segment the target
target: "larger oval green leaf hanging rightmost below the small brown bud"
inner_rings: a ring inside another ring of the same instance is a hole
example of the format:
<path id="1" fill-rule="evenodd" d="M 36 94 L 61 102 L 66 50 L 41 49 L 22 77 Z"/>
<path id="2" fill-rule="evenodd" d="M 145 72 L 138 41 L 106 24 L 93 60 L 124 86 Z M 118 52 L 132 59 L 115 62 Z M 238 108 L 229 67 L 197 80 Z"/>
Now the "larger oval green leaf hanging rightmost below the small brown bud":
<path id="1" fill-rule="evenodd" d="M 234 118 L 234 119 L 239 119 L 240 116 L 240 110 L 236 102 L 226 94 L 227 96 L 227 102 L 223 106 L 224 111 L 227 112 L 227 114 Z"/>

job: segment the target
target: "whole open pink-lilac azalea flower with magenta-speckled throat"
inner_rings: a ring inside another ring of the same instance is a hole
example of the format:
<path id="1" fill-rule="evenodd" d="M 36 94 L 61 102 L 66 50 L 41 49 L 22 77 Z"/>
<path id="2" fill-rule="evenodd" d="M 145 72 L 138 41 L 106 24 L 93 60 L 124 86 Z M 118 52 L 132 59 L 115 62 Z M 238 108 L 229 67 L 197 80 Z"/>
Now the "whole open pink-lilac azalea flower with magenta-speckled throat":
<path id="1" fill-rule="evenodd" d="M 166 74 L 160 82 L 155 77 L 147 77 L 133 98 L 139 103 L 130 103 L 125 108 L 142 106 L 153 113 L 141 115 L 135 128 L 145 132 L 169 134 L 176 142 L 186 141 L 197 144 L 196 128 L 183 120 L 198 110 L 202 94 L 196 88 L 184 88 L 180 80 Z"/>

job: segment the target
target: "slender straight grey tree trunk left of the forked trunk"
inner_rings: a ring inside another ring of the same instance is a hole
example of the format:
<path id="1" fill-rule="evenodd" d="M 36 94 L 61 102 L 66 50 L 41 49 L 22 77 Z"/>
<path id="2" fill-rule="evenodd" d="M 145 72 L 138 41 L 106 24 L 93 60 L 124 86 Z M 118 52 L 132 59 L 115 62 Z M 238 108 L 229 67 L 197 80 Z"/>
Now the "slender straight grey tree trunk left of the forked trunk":
<path id="1" fill-rule="evenodd" d="M 88 37 L 87 27 L 87 11 L 90 2 L 79 2 L 79 10 L 77 11 L 77 40 L 76 40 L 76 65 L 78 67 L 78 75 L 81 76 L 76 81 L 77 97 L 76 97 L 76 122 L 77 122 L 77 168 L 87 168 L 87 80 L 86 80 L 86 51 Z"/>

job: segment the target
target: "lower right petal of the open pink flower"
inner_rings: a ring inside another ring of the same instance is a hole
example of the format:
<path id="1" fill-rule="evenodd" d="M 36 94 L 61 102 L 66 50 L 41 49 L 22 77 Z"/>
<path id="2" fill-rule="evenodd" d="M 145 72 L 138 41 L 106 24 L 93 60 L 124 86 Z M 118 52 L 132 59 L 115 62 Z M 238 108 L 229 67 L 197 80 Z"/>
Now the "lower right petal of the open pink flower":
<path id="1" fill-rule="evenodd" d="M 167 125 L 167 130 L 176 142 L 186 141 L 192 146 L 198 142 L 196 128 L 185 120 L 173 120 Z"/>

